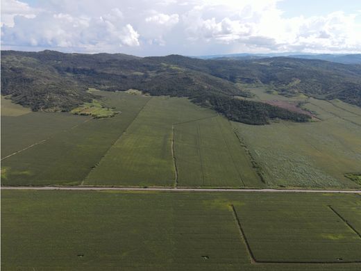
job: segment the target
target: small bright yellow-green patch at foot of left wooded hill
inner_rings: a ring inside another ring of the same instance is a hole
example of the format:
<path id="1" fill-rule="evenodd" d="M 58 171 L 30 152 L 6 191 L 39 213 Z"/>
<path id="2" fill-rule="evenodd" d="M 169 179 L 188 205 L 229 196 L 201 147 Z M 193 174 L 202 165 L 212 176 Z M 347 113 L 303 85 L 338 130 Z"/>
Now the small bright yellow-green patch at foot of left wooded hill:
<path id="1" fill-rule="evenodd" d="M 82 106 L 74 108 L 70 112 L 74 115 L 90 115 L 96 119 L 114 117 L 119 113 L 119 111 L 115 111 L 113 108 L 108 108 L 97 100 L 93 100 L 91 103 L 84 103 Z"/>

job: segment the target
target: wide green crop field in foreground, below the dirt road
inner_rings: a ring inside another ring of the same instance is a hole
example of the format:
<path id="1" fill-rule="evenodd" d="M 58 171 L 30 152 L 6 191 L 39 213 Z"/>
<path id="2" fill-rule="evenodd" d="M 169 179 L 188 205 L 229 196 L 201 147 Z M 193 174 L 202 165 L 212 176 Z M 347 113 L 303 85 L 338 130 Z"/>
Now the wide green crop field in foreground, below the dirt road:
<path id="1" fill-rule="evenodd" d="M 3 270 L 361 268 L 360 195 L 3 190 L 1 197 Z"/>

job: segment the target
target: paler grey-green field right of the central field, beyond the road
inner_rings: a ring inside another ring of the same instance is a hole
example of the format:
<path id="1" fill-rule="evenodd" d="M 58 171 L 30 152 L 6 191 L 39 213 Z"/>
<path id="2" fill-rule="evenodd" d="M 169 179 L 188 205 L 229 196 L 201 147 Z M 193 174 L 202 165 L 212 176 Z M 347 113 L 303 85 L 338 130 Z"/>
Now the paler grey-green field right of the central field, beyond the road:
<path id="1" fill-rule="evenodd" d="M 357 115 L 361 110 L 339 101 L 333 101 L 338 107 L 328 101 L 309 101 L 303 107 L 316 114 L 317 122 L 280 121 L 267 126 L 233 122 L 233 126 L 269 186 L 359 187 L 344 174 L 361 171 L 361 117 Z"/>

